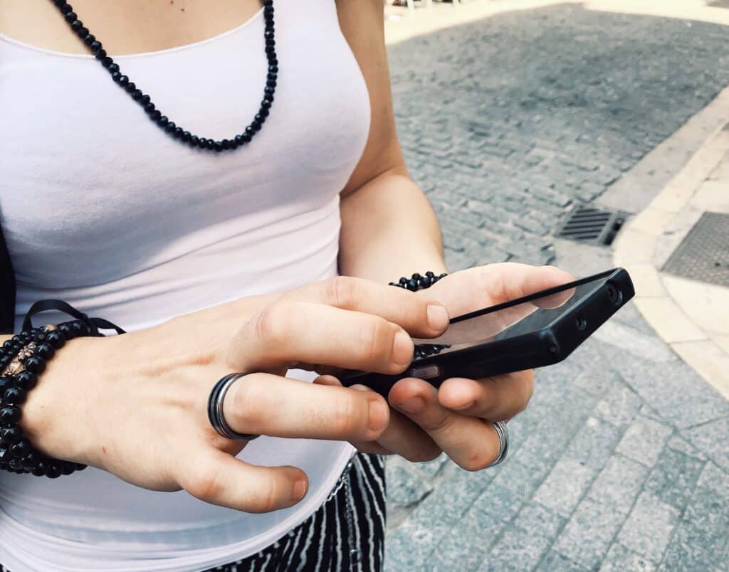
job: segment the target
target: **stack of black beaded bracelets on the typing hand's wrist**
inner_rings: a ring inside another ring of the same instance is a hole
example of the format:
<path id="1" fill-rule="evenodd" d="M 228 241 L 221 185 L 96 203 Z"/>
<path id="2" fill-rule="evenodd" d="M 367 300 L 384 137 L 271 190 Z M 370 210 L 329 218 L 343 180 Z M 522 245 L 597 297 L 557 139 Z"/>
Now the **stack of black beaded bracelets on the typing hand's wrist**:
<path id="1" fill-rule="evenodd" d="M 20 406 L 38 383 L 47 361 L 74 337 L 93 335 L 82 320 L 42 326 L 15 334 L 0 348 L 0 469 L 55 479 L 85 469 L 81 463 L 50 458 L 36 450 L 18 424 Z M 98 335 L 98 333 L 97 333 Z M 20 348 L 20 349 L 18 349 Z"/>

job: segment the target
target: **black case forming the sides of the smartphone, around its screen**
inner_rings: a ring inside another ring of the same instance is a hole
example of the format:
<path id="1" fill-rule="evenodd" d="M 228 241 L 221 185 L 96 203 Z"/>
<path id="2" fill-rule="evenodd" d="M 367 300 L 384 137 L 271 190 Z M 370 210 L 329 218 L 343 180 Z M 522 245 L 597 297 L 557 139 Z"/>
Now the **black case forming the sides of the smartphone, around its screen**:
<path id="1" fill-rule="evenodd" d="M 440 384 L 449 377 L 480 379 L 556 364 L 569 356 L 610 316 L 634 297 L 633 282 L 625 270 L 617 268 L 612 273 L 605 274 L 606 280 L 601 286 L 586 294 L 579 303 L 556 318 L 552 324 L 536 332 L 418 359 L 413 361 L 405 372 L 397 375 L 348 370 L 340 376 L 340 381 L 346 387 L 356 383 L 367 385 L 373 391 L 387 397 L 392 386 L 404 377 L 421 377 L 435 387 L 440 387 Z M 545 292 L 556 290 L 558 289 Z M 526 298 L 537 297 L 532 295 Z M 526 299 L 520 300 L 526 301 Z M 498 307 L 521 303 L 520 300 Z M 460 318 L 456 320 L 460 321 Z"/>

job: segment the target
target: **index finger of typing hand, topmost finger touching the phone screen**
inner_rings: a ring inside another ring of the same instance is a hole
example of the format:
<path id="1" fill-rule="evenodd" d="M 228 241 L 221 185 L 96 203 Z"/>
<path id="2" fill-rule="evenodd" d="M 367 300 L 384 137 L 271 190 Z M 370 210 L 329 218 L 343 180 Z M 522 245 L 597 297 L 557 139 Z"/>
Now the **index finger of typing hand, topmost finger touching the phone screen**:
<path id="1" fill-rule="evenodd" d="M 364 278 L 336 276 L 307 284 L 290 291 L 286 296 L 343 310 L 375 314 L 402 326 L 411 336 L 431 338 L 440 335 L 448 327 L 448 310 L 440 302 Z"/>

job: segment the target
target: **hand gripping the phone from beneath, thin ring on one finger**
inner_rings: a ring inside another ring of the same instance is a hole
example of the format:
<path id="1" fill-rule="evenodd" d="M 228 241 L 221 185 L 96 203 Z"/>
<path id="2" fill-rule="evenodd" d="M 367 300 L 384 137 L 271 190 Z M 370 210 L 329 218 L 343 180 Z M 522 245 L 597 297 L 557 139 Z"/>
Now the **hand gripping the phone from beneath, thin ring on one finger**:
<path id="1" fill-rule="evenodd" d="M 555 267 L 494 264 L 453 273 L 416 297 L 442 302 L 451 316 L 506 302 L 572 281 Z M 550 299 L 559 305 L 562 298 Z M 319 383 L 334 383 L 324 378 Z M 529 403 L 531 370 L 483 380 L 451 378 L 440 389 L 424 380 L 399 380 L 389 393 L 396 410 L 377 439 L 355 442 L 360 450 L 397 453 L 410 461 L 429 461 L 445 451 L 469 471 L 490 465 L 499 452 L 492 423 L 508 420 Z"/>

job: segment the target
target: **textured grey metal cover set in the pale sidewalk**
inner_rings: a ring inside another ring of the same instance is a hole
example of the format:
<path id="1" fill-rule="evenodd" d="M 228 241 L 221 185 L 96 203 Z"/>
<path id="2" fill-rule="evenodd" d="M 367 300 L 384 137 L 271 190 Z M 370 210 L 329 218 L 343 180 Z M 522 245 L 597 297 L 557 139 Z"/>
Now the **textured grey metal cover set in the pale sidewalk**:
<path id="1" fill-rule="evenodd" d="M 663 271 L 729 286 L 729 214 L 703 213 Z"/>

